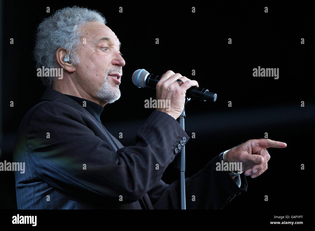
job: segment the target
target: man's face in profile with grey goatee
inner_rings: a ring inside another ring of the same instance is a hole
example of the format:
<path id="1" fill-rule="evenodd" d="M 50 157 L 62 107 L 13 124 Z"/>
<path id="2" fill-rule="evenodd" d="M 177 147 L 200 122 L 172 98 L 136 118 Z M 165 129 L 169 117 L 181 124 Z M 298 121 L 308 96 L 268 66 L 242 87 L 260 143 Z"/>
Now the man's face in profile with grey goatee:
<path id="1" fill-rule="evenodd" d="M 80 63 L 76 65 L 73 81 L 80 91 L 100 104 L 112 103 L 120 97 L 120 76 L 125 65 L 119 51 L 120 42 L 108 26 L 99 22 L 88 22 L 82 31 L 84 35 L 80 38 L 78 51 Z M 112 76 L 117 74 L 117 78 Z"/>

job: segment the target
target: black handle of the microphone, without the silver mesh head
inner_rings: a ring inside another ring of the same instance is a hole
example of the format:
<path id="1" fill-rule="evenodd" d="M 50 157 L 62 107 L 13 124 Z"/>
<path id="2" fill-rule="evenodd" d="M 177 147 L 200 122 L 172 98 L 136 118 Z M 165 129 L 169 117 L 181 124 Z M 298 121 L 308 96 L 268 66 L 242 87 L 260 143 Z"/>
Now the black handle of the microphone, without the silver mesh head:
<path id="1" fill-rule="evenodd" d="M 156 89 L 156 85 L 158 81 L 160 81 L 160 76 L 154 76 L 149 74 L 146 77 L 146 86 Z M 200 101 L 207 101 L 210 100 L 211 102 L 215 102 L 217 98 L 217 94 L 208 91 L 208 89 L 202 87 L 192 86 L 186 91 L 186 96 L 188 98 L 200 100 Z"/>

